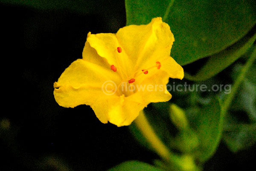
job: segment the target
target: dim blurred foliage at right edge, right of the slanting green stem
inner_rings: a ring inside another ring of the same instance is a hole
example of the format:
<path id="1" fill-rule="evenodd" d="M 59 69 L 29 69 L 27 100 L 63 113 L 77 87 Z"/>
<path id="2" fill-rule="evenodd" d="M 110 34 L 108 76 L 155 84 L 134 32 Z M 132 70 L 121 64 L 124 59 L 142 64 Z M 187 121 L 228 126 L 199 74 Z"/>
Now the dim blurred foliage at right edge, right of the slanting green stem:
<path id="1" fill-rule="evenodd" d="M 253 48 L 255 51 L 256 46 Z M 247 53 L 247 55 L 249 54 Z M 242 68 L 243 64 L 241 62 L 232 67 L 233 80 L 237 79 Z M 227 114 L 223 138 L 233 152 L 249 148 L 256 142 L 255 69 L 256 61 L 247 71 Z M 241 120 L 239 114 L 246 115 L 246 118 Z"/>

